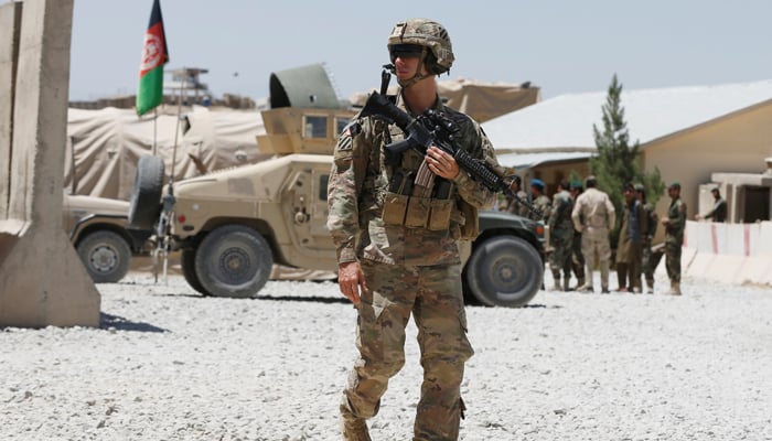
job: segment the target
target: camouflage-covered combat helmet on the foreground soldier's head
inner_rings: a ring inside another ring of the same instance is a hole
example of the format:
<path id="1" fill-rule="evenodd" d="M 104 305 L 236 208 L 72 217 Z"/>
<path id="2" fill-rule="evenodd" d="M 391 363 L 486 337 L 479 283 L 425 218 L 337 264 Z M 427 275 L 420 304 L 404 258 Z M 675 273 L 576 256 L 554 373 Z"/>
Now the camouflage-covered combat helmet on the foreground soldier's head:
<path id="1" fill-rule="evenodd" d="M 435 75 L 450 71 L 455 57 L 450 36 L 444 26 L 429 19 L 408 19 L 398 22 L 388 36 L 387 47 L 398 44 L 415 44 L 426 47 L 427 54 L 423 58 L 427 71 Z"/>

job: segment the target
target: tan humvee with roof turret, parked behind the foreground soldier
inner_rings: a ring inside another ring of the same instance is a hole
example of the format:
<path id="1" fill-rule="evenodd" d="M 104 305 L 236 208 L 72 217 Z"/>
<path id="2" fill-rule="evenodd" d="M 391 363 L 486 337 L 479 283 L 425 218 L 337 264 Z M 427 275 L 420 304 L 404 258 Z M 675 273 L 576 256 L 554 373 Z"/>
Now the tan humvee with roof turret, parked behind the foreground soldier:
<path id="1" fill-rule="evenodd" d="M 178 181 L 165 192 L 163 161 L 138 162 L 129 220 L 181 250 L 185 280 L 205 295 L 254 297 L 272 263 L 337 269 L 326 187 L 337 133 L 355 111 L 341 107 L 320 65 L 271 74 L 270 88 L 257 144 L 271 159 Z M 464 247 L 465 298 L 526 304 L 542 286 L 543 225 L 481 212 L 480 229 Z"/>

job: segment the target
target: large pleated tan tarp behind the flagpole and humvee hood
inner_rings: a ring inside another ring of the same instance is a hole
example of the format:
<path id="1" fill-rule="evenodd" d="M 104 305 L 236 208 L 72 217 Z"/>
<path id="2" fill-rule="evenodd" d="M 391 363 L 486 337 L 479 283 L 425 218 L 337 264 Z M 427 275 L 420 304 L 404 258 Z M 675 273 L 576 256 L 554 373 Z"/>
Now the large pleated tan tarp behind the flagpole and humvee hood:
<path id="1" fill-rule="evenodd" d="M 178 129 L 176 115 L 138 118 L 131 109 L 71 108 L 64 185 L 73 189 L 75 180 L 77 194 L 128 201 L 137 161 L 152 154 L 153 138 L 157 154 L 165 163 L 167 179 L 174 158 L 174 179 L 181 180 L 202 174 L 202 168 L 214 171 L 265 158 L 255 138 L 264 132 L 257 110 L 193 107 L 185 111 Z"/>

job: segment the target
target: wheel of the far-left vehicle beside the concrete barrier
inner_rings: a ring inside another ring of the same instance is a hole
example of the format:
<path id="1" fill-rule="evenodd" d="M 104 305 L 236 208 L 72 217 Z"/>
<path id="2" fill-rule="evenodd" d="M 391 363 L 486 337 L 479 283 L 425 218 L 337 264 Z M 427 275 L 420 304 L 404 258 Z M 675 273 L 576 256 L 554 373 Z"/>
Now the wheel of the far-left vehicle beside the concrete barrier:
<path id="1" fill-rule="evenodd" d="M 129 272 L 131 248 L 118 233 L 90 233 L 78 241 L 76 250 L 95 283 L 115 283 Z"/>

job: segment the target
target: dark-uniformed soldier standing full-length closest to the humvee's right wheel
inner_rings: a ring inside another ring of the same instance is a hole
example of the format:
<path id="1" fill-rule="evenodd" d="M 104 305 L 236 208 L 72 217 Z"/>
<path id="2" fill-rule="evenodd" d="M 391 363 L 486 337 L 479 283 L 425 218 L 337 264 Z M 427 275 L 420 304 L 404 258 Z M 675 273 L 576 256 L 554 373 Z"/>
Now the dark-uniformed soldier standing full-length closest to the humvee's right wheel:
<path id="1" fill-rule="evenodd" d="M 573 200 L 568 193 L 568 182 L 560 181 L 558 191 L 553 196 L 553 209 L 549 214 L 549 245 L 553 247 L 549 268 L 553 270 L 555 279 L 553 291 L 560 290 L 560 270 L 564 273 L 562 290 L 568 291 L 570 288 L 571 244 L 573 241 L 572 209 Z"/>

